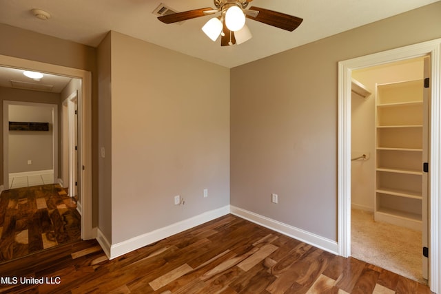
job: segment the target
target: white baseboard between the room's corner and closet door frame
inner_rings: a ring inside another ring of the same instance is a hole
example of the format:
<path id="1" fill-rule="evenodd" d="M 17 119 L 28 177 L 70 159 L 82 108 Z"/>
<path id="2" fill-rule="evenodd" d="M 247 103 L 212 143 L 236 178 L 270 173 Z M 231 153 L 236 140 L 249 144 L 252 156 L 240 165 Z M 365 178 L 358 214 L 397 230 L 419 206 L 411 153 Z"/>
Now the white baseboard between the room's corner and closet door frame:
<path id="1" fill-rule="evenodd" d="M 278 222 L 277 220 L 267 218 L 266 216 L 260 216 L 257 213 L 234 207 L 232 205 L 230 205 L 230 211 L 235 216 L 244 218 L 245 220 L 249 220 L 250 222 L 254 222 L 273 231 L 283 233 L 283 235 L 311 244 L 312 246 L 316 246 L 330 253 L 337 254 L 337 242 L 333 240 L 323 238 L 320 235 L 292 227 L 289 224 L 284 224 L 283 222 Z"/>

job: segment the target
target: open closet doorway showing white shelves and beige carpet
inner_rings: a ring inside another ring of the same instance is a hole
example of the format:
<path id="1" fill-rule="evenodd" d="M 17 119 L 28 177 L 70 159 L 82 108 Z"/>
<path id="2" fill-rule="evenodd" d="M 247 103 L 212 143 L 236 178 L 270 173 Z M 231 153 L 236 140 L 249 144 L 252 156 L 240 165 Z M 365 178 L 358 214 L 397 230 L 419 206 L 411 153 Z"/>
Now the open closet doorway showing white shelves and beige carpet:
<path id="1" fill-rule="evenodd" d="M 353 87 L 351 94 L 351 256 L 423 284 L 422 168 L 429 140 L 424 64 L 429 56 L 351 73 L 353 83 L 369 90 L 360 96 Z"/>

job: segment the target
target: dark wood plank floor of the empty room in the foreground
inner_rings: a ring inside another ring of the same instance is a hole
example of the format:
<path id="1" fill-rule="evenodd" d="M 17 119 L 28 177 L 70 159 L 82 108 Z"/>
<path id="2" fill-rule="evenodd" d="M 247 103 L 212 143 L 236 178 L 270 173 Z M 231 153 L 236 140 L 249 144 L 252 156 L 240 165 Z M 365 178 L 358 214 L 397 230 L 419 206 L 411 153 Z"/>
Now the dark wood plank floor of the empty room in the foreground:
<path id="1" fill-rule="evenodd" d="M 431 293 L 232 215 L 114 260 L 94 240 L 57 246 L 1 265 L 0 277 L 18 280 L 0 291 L 20 293 Z"/>

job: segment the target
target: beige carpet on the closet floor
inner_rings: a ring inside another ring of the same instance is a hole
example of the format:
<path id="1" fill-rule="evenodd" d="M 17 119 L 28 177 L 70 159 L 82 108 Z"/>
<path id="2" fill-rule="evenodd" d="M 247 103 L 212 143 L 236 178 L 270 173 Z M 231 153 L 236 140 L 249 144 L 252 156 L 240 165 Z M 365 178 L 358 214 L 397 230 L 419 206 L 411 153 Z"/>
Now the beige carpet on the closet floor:
<path id="1" fill-rule="evenodd" d="M 373 213 L 352 209 L 351 256 L 427 284 L 422 278 L 422 234 L 374 222 Z"/>

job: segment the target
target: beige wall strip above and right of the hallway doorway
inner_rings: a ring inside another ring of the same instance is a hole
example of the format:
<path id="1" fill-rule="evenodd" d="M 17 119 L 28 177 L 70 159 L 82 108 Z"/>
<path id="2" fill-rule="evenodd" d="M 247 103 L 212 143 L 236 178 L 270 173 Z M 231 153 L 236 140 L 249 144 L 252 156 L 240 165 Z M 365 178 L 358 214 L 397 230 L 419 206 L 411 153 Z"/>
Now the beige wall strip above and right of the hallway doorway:
<path id="1" fill-rule="evenodd" d="M 54 38 L 44 34 L 38 34 L 29 30 L 14 28 L 0 23 L 0 54 L 14 56 L 21 59 L 40 61 L 54 65 L 77 68 L 92 72 L 92 222 L 98 223 L 98 83 L 96 73 L 96 49 Z M 3 138 L 3 129 L 0 130 L 0 138 Z M 0 160 L 3 160 L 3 143 L 0 144 Z M 0 171 L 0 179 L 3 182 L 3 169 Z"/>

